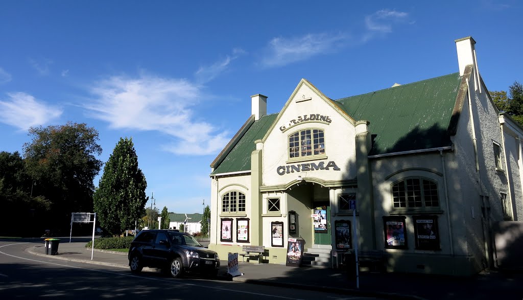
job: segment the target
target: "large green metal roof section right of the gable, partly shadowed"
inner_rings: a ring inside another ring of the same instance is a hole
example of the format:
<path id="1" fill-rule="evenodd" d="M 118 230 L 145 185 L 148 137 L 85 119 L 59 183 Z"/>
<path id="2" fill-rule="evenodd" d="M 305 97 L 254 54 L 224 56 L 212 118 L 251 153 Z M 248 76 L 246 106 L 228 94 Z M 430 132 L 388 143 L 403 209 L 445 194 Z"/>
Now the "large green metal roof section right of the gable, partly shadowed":
<path id="1" fill-rule="evenodd" d="M 336 101 L 355 120 L 370 122 L 369 155 L 446 147 L 460 83 L 453 73 Z"/>

